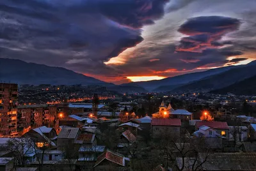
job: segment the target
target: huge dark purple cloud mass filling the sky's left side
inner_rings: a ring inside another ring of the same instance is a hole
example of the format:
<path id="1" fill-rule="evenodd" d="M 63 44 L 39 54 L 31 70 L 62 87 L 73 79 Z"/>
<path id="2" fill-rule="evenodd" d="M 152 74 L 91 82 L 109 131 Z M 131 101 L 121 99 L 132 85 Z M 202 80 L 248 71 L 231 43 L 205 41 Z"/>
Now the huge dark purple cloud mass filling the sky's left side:
<path id="1" fill-rule="evenodd" d="M 112 75 L 104 62 L 143 41 L 140 28 L 161 19 L 167 2 L 3 0 L 0 57 Z"/>

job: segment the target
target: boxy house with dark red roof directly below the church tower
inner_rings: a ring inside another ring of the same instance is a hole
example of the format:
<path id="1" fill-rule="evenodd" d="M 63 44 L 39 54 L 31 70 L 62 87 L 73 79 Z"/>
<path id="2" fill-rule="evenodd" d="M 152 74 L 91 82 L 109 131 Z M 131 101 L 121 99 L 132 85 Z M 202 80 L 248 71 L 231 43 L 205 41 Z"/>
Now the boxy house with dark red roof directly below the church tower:
<path id="1" fill-rule="evenodd" d="M 172 135 L 173 137 L 180 136 L 180 119 L 173 118 L 152 118 L 151 130 L 152 138 L 159 138 L 163 134 Z"/>

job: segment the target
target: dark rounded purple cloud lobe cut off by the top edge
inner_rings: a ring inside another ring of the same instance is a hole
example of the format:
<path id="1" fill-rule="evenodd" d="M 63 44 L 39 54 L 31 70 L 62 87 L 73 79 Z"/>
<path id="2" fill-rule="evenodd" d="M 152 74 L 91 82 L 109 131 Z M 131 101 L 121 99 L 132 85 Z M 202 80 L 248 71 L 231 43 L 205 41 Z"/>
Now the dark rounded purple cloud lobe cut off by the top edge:
<path id="1" fill-rule="evenodd" d="M 99 6 L 100 11 L 109 19 L 124 26 L 141 28 L 161 19 L 167 2 L 168 0 L 99 1 Z"/>

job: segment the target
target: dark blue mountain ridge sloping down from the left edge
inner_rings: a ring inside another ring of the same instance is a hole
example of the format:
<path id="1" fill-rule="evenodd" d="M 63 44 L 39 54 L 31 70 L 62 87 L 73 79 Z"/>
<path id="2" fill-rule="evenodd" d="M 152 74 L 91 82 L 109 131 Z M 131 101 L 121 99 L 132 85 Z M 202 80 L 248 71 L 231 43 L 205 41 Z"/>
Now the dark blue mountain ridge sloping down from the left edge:
<path id="1" fill-rule="evenodd" d="M 61 67 L 0 58 L 0 82 L 52 85 L 114 85 Z"/>

